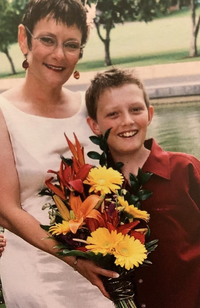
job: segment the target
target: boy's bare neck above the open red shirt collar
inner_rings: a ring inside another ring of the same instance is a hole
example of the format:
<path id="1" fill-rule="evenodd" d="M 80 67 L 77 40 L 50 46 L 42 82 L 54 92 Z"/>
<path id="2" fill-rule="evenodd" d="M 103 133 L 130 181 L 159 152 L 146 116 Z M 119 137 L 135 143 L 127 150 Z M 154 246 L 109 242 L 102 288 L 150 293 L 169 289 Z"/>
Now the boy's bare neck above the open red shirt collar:
<path id="1" fill-rule="evenodd" d="M 122 162 L 124 166 L 122 167 L 122 173 L 129 179 L 129 173 L 134 175 L 138 174 L 138 168 L 142 168 L 147 158 L 149 157 L 150 150 L 146 149 L 144 145 L 137 151 L 133 153 L 123 154 L 123 153 L 112 153 L 113 160 L 115 163 Z"/>

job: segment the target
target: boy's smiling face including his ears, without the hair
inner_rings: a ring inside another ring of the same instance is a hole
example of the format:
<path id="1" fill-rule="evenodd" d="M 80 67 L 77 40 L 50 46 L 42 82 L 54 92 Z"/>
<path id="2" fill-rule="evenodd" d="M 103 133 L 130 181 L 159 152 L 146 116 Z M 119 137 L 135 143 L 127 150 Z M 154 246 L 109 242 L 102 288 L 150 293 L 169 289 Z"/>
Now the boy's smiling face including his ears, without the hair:
<path id="1" fill-rule="evenodd" d="M 107 88 L 97 103 L 97 122 L 88 119 L 93 132 L 104 135 L 111 128 L 108 145 L 113 156 L 141 152 L 153 107 L 146 107 L 142 90 L 133 83 Z"/>

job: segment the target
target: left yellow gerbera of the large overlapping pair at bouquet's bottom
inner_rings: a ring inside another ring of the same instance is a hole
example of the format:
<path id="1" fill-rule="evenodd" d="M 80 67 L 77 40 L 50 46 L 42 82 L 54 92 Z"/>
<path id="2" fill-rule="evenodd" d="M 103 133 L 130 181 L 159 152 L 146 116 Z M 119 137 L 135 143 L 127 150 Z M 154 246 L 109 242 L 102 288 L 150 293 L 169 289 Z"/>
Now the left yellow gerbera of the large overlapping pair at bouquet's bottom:
<path id="1" fill-rule="evenodd" d="M 114 247 L 122 241 L 124 235 L 117 233 L 117 231 L 109 232 L 106 228 L 98 228 L 91 233 L 91 237 L 87 237 L 87 242 L 92 245 L 86 245 L 86 248 L 94 253 L 113 253 Z"/>

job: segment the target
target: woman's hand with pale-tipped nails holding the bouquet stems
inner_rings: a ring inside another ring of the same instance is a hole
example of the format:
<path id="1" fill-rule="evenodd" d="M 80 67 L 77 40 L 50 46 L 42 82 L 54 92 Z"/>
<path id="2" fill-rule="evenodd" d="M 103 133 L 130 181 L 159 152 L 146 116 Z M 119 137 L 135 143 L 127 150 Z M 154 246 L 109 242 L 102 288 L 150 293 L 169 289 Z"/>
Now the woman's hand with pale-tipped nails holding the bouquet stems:
<path id="1" fill-rule="evenodd" d="M 119 277 L 118 273 L 111 270 L 104 270 L 94 262 L 87 259 L 78 259 L 76 270 L 79 274 L 89 280 L 92 285 L 97 286 L 105 297 L 110 299 L 110 296 L 106 292 L 99 275 L 106 276 L 108 278 L 117 278 Z"/>

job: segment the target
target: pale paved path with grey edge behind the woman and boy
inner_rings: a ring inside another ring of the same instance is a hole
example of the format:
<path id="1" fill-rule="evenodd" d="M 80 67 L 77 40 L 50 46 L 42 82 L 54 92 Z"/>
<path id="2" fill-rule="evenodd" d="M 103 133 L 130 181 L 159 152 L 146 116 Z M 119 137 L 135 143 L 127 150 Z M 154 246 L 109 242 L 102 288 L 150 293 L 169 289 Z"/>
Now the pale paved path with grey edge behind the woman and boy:
<path id="1" fill-rule="evenodd" d="M 105 68 L 106 69 L 106 68 Z M 135 67 L 150 98 L 200 95 L 200 61 Z M 72 91 L 85 91 L 96 71 L 70 77 L 64 85 Z M 22 83 L 23 78 L 0 79 L 0 93 Z"/>

